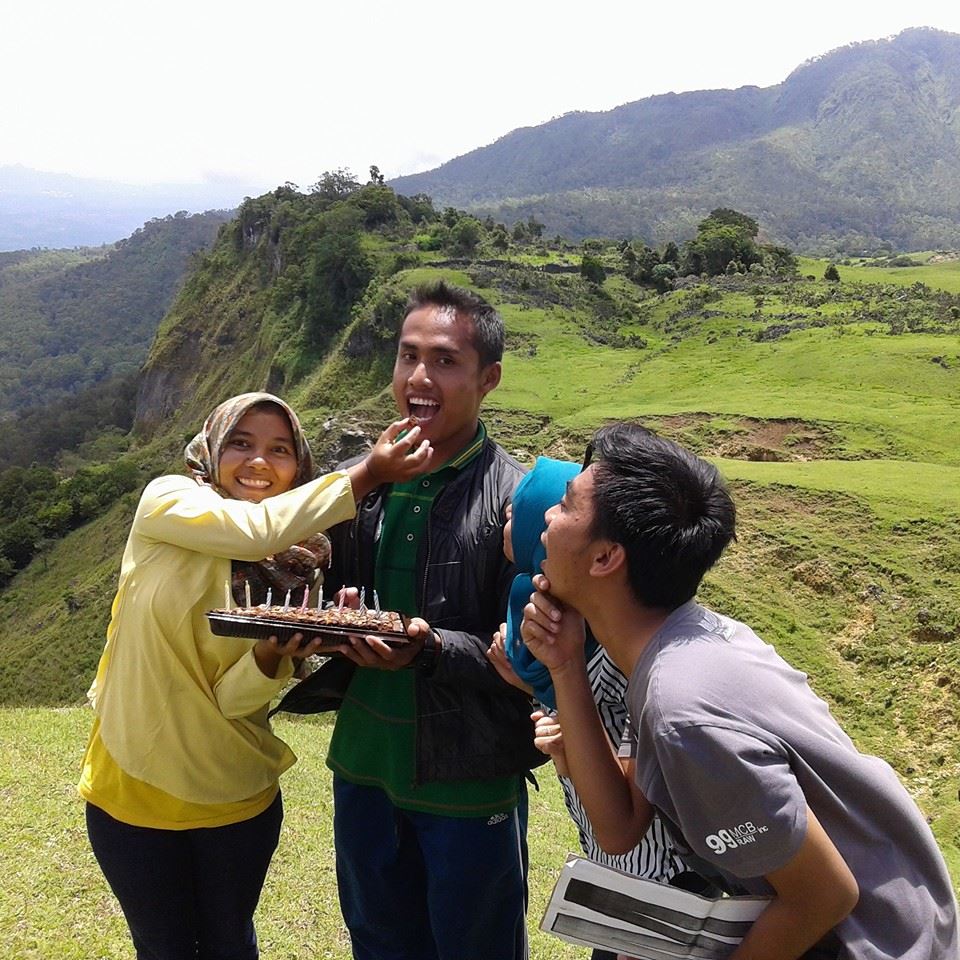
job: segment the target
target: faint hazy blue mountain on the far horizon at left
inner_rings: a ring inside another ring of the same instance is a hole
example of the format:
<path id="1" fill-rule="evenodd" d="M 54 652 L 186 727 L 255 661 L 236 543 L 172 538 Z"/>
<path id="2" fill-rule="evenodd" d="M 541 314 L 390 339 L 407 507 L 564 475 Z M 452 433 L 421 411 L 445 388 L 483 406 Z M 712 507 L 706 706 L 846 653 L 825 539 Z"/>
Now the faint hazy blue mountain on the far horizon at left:
<path id="1" fill-rule="evenodd" d="M 134 185 L 0 166 L 0 251 L 99 246 L 174 211 L 233 210 L 262 185 Z"/>

